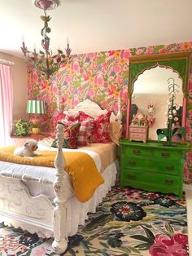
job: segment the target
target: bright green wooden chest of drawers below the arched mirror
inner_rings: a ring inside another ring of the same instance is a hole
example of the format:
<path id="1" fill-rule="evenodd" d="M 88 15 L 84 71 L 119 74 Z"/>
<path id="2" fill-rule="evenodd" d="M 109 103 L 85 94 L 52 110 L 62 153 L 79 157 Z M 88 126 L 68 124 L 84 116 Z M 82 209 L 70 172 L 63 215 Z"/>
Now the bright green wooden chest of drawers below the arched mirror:
<path id="1" fill-rule="evenodd" d="M 185 145 L 120 140 L 120 186 L 174 193 L 182 198 Z"/>

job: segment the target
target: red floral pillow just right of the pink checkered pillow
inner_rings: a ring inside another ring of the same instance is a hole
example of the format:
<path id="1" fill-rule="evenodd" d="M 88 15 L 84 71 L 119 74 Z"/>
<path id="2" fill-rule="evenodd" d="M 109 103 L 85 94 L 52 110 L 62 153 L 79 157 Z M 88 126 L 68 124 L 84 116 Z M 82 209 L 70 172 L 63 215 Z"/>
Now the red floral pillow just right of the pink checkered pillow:
<path id="1" fill-rule="evenodd" d="M 111 112 L 98 116 L 94 121 L 94 134 L 93 142 L 96 143 L 109 143 L 111 139 L 109 137 L 109 123 Z"/>

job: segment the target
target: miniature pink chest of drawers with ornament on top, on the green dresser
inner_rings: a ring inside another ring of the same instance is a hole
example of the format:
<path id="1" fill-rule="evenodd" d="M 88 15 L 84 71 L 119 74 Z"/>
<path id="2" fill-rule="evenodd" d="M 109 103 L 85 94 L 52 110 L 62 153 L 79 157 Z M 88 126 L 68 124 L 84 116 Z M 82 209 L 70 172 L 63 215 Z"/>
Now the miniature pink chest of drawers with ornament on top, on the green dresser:
<path id="1" fill-rule="evenodd" d="M 144 113 L 138 112 L 133 115 L 133 120 L 129 126 L 129 140 L 142 141 L 146 143 L 148 139 L 148 121 Z"/>

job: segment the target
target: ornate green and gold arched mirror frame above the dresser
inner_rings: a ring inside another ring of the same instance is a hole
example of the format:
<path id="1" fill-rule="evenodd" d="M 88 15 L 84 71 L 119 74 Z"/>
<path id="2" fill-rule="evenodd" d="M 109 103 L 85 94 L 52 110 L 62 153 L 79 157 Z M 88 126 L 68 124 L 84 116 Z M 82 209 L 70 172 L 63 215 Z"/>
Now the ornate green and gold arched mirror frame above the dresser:
<path id="1" fill-rule="evenodd" d="M 177 72 L 182 79 L 183 104 L 182 104 L 182 126 L 185 127 L 186 121 L 186 98 L 188 95 L 188 75 L 190 66 L 190 52 L 181 52 L 164 55 L 142 55 L 129 59 L 129 87 L 128 87 L 128 108 L 126 118 L 126 138 L 129 135 L 129 118 L 131 97 L 133 94 L 133 84 L 137 77 L 146 69 L 155 68 L 156 66 L 164 68 L 172 68 L 173 72 Z"/>

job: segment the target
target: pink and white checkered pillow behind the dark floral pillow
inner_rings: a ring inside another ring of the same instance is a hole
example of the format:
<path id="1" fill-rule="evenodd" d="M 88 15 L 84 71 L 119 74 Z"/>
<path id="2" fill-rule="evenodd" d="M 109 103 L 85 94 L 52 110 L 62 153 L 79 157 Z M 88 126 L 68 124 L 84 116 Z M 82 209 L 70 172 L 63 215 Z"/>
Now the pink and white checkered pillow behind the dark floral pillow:
<path id="1" fill-rule="evenodd" d="M 72 126 L 75 123 L 80 123 L 80 130 L 79 130 L 79 135 L 77 138 L 77 145 L 78 146 L 87 146 L 89 145 L 89 120 L 88 121 L 68 121 L 68 120 L 63 120 L 63 124 L 67 126 Z"/>

